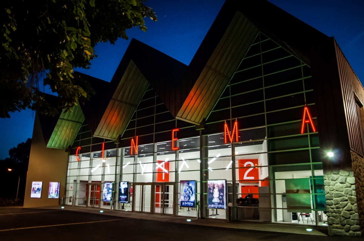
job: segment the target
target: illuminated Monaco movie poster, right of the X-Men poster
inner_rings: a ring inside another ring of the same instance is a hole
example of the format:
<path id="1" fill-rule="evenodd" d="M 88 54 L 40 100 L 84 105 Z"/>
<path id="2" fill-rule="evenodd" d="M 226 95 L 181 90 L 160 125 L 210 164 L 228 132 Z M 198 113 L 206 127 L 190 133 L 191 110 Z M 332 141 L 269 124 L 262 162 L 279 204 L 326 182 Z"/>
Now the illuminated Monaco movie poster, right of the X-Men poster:
<path id="1" fill-rule="evenodd" d="M 207 180 L 207 208 L 226 209 L 226 180 Z"/>

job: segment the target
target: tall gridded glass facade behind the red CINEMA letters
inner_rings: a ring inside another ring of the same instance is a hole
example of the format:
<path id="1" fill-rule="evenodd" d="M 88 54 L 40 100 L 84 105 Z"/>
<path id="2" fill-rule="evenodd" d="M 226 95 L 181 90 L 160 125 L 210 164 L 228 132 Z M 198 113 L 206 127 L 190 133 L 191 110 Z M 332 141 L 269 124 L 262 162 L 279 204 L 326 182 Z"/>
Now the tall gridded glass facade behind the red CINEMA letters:
<path id="1" fill-rule="evenodd" d="M 258 33 L 201 135 L 194 125 L 174 119 L 151 87 L 118 146 L 91 137 L 82 126 L 72 146 L 81 146 L 80 161 L 75 155 L 69 159 L 69 204 L 110 208 L 100 199 L 102 183 L 129 182 L 130 204 L 116 202 L 115 209 L 195 217 L 195 208 L 179 207 L 179 181 L 196 180 L 204 217 L 225 219 L 225 210 L 208 209 L 206 200 L 207 180 L 226 179 L 226 202 L 237 219 L 321 225 L 327 220 L 323 168 L 317 132 L 304 123 L 301 134 L 305 105 L 316 125 L 309 66 Z M 225 143 L 224 125 L 233 130 L 235 122 L 238 141 L 231 133 L 233 141 L 228 135 Z M 175 128 L 173 145 L 179 150 L 172 150 Z M 135 136 L 138 154 L 131 154 Z"/>

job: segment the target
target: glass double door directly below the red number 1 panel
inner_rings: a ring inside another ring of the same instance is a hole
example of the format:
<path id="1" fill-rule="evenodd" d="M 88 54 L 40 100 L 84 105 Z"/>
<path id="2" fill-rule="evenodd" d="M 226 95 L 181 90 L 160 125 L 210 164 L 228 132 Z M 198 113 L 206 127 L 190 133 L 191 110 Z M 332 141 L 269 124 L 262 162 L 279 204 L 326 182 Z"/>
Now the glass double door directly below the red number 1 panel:
<path id="1" fill-rule="evenodd" d="M 155 183 L 153 194 L 153 213 L 173 215 L 174 183 Z"/>

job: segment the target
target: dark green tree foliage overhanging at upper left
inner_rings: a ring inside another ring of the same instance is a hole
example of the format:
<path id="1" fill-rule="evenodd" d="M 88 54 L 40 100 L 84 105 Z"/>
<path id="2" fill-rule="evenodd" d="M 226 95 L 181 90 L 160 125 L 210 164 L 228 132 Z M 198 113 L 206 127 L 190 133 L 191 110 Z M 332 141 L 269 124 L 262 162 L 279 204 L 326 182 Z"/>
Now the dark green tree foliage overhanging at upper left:
<path id="1" fill-rule="evenodd" d="M 145 17 L 157 21 L 146 0 L 5 0 L 0 16 L 0 117 L 31 108 L 55 115 L 40 92 L 41 81 L 68 111 L 89 99 L 94 90 L 74 76 L 89 68 L 99 42 L 128 39 L 126 29 L 146 31 Z"/>

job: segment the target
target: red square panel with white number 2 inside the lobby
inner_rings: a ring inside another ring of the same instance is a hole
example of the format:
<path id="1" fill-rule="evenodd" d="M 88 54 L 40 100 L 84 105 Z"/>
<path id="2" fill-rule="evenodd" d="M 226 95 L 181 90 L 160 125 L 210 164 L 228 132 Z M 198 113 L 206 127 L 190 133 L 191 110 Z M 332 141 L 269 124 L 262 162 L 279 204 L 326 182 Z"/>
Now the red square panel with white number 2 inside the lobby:
<path id="1" fill-rule="evenodd" d="M 258 182 L 258 159 L 240 159 L 239 163 L 239 180 L 240 182 Z M 243 167 L 243 168 L 241 168 Z M 245 168 L 244 168 L 245 167 Z M 247 168 L 249 167 L 249 168 Z M 255 181 L 253 181 L 255 180 Z"/>

